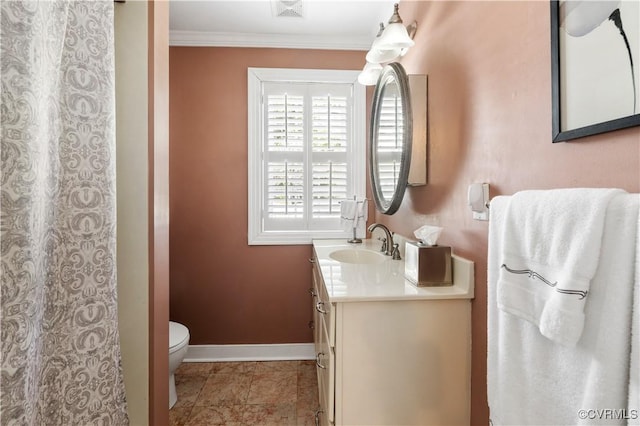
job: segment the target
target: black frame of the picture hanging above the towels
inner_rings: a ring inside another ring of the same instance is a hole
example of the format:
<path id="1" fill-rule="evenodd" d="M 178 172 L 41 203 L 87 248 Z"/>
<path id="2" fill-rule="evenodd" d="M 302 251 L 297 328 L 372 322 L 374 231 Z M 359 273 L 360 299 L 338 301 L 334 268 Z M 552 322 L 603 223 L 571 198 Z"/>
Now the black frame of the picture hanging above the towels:
<path id="1" fill-rule="evenodd" d="M 585 136 L 597 135 L 614 130 L 626 129 L 640 126 L 640 114 L 617 118 L 601 123 L 594 123 L 588 126 L 570 130 L 562 130 L 561 123 L 561 85 L 560 68 L 562 58 L 560 57 L 560 2 L 551 0 L 551 98 L 552 98 L 552 141 L 566 142 Z"/>

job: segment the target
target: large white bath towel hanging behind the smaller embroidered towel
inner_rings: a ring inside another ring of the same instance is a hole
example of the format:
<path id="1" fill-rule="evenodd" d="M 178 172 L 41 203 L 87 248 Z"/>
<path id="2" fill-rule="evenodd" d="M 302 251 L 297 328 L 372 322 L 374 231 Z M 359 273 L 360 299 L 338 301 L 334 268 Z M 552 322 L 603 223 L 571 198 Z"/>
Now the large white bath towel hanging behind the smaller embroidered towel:
<path id="1" fill-rule="evenodd" d="M 491 201 L 489 224 L 487 396 L 493 425 L 625 424 L 638 194 L 609 203 L 582 338 L 574 347 L 547 339 L 536 325 L 497 306 L 510 198 Z"/>

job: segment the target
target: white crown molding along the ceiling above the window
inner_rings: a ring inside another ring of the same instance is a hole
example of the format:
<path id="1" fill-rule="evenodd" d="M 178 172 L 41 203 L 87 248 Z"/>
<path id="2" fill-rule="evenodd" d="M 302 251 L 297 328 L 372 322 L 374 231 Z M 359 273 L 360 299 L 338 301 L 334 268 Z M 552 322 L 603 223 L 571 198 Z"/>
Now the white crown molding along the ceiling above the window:
<path id="1" fill-rule="evenodd" d="M 371 47 L 368 37 L 249 34 L 201 31 L 171 31 L 170 46 L 265 47 L 276 49 L 363 50 Z"/>

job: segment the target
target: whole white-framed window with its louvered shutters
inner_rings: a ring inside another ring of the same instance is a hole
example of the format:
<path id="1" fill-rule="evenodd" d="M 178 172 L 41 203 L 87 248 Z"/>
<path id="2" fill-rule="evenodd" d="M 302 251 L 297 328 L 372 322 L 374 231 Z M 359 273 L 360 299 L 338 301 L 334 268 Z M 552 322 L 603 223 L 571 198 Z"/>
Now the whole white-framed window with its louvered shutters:
<path id="1" fill-rule="evenodd" d="M 301 71 L 316 77 L 286 80 Z M 365 182 L 365 93 L 356 79 L 352 71 L 249 70 L 250 244 L 347 236 L 340 201 L 363 198 Z"/>

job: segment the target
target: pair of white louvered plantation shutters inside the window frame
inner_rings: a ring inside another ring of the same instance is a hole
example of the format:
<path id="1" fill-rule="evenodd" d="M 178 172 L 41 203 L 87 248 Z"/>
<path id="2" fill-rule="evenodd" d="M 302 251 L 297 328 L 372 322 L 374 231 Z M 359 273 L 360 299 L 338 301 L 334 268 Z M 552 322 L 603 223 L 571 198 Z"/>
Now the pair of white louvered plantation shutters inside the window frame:
<path id="1" fill-rule="evenodd" d="M 339 229 L 355 194 L 352 102 L 347 84 L 264 84 L 266 231 Z"/>

